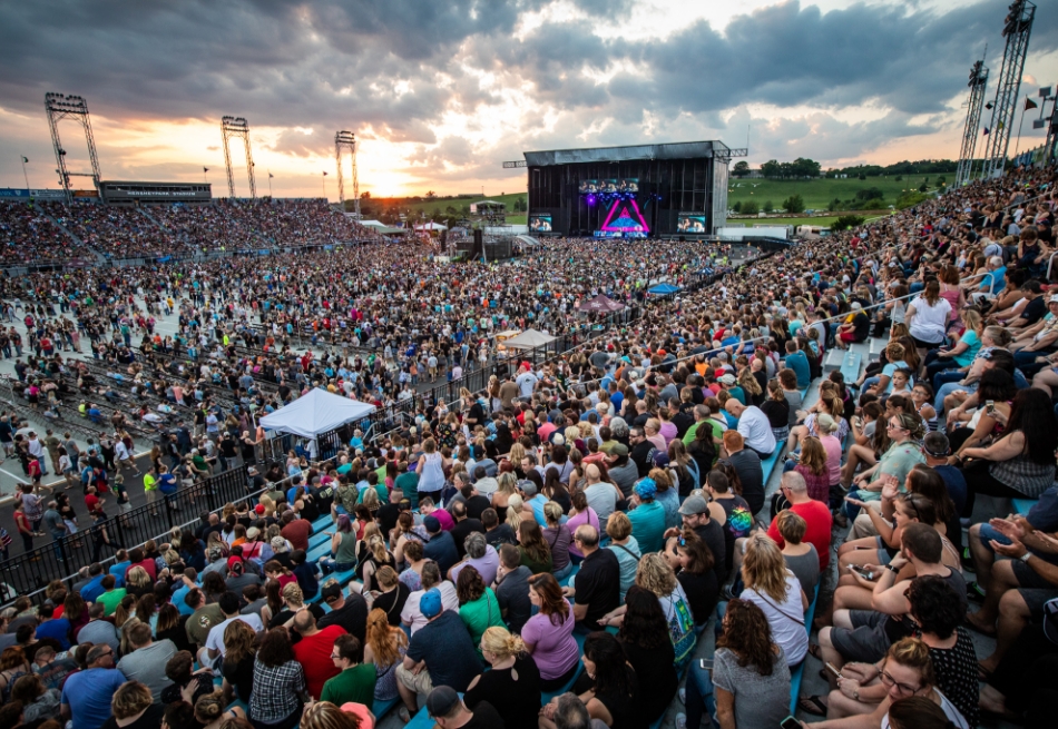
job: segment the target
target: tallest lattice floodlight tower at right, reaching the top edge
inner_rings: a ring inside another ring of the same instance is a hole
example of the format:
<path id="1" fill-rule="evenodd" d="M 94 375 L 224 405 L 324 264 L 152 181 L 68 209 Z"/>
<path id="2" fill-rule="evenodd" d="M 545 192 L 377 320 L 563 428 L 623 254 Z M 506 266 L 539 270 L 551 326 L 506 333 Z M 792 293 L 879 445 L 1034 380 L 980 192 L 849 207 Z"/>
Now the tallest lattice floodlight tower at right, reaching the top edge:
<path id="1" fill-rule="evenodd" d="M 1010 147 L 1010 130 L 1015 125 L 1018 106 L 1018 91 L 1021 88 L 1021 73 L 1025 70 L 1025 57 L 1029 52 L 1029 35 L 1032 32 L 1032 19 L 1036 4 L 1028 0 L 1015 0 L 1003 21 L 1003 62 L 999 69 L 999 85 L 996 88 L 996 101 L 992 107 L 992 122 L 984 148 L 984 179 L 999 177 L 1007 164 L 1007 150 Z"/>

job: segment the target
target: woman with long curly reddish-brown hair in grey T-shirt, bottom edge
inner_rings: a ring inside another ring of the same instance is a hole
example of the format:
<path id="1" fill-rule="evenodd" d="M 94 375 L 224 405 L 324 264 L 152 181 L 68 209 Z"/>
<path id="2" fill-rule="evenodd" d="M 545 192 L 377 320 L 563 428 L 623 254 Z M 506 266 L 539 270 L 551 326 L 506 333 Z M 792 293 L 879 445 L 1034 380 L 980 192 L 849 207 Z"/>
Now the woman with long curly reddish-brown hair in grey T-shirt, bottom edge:
<path id="1" fill-rule="evenodd" d="M 736 599 L 727 603 L 723 629 L 712 671 L 690 664 L 687 713 L 676 715 L 676 727 L 698 729 L 703 713 L 722 727 L 778 726 L 790 712 L 790 659 L 773 642 L 771 621 L 755 603 Z"/>

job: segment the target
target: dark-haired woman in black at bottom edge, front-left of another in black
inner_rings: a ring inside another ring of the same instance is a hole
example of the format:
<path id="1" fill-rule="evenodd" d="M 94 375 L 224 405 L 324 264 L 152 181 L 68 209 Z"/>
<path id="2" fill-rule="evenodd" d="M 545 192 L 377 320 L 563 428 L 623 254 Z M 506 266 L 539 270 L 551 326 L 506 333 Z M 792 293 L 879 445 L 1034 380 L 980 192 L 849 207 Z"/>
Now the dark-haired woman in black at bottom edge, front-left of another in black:
<path id="1" fill-rule="evenodd" d="M 585 529 L 581 526 L 581 529 Z M 585 698 L 588 716 L 607 727 L 627 726 L 639 705 L 639 680 L 628 664 L 620 642 L 609 633 L 597 631 L 584 643 L 585 673 L 577 688 Z M 540 728 L 556 729 L 558 702 L 552 699 L 540 712 Z"/>

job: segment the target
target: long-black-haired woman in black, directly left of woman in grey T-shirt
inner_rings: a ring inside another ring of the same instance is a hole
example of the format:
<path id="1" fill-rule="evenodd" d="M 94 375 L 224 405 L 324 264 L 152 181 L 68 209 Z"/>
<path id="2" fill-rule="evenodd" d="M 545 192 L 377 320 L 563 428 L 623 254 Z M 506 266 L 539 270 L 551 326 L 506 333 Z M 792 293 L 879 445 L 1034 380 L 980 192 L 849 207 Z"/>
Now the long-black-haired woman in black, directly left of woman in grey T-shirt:
<path id="1" fill-rule="evenodd" d="M 617 639 L 639 679 L 641 701 L 636 723 L 649 726 L 665 713 L 676 696 L 676 652 L 668 636 L 668 620 L 653 592 L 634 584 L 625 604 Z"/>

